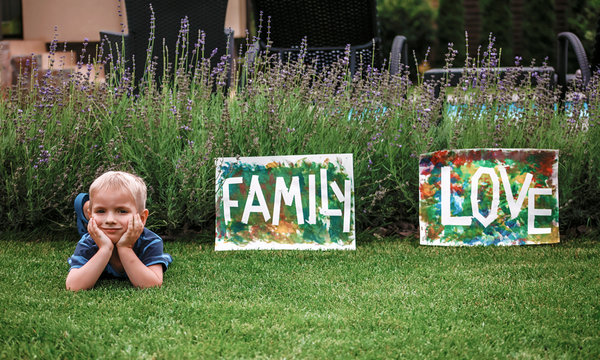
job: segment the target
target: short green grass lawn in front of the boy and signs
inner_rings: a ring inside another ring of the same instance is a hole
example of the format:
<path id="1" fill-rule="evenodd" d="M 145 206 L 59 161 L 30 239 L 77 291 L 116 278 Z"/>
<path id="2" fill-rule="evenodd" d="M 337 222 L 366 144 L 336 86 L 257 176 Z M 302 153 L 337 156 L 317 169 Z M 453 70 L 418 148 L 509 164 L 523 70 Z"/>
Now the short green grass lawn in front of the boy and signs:
<path id="1" fill-rule="evenodd" d="M 0 235 L 0 358 L 598 358 L 600 240 L 214 252 L 160 289 L 64 289 L 76 236 Z"/>

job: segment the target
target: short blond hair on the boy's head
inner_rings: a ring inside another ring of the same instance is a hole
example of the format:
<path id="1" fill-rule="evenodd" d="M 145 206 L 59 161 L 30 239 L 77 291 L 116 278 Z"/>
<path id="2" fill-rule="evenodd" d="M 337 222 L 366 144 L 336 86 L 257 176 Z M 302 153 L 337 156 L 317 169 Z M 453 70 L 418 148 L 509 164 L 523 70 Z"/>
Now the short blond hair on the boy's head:
<path id="1" fill-rule="evenodd" d="M 108 171 L 96 178 L 90 185 L 90 205 L 94 193 L 115 188 L 125 189 L 131 193 L 139 211 L 146 208 L 146 183 L 141 177 L 124 171 Z"/>

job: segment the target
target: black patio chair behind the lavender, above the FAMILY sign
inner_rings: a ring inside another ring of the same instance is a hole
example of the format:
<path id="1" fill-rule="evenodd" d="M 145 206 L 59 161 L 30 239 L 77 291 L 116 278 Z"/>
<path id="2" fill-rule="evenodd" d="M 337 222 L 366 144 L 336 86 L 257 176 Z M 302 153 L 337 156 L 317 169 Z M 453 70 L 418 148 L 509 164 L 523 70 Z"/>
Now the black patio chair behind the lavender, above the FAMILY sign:
<path id="1" fill-rule="evenodd" d="M 347 45 L 352 74 L 361 63 L 363 68 L 383 64 L 376 0 L 252 0 L 252 7 L 256 21 L 263 19 L 263 34 L 268 30 L 269 52 L 279 54 L 284 61 L 298 58 L 306 38 L 305 61 L 315 61 L 318 71 L 344 57 Z M 267 48 L 264 36 L 259 48 Z M 407 63 L 407 53 L 406 38 L 396 36 L 391 73 Z"/>

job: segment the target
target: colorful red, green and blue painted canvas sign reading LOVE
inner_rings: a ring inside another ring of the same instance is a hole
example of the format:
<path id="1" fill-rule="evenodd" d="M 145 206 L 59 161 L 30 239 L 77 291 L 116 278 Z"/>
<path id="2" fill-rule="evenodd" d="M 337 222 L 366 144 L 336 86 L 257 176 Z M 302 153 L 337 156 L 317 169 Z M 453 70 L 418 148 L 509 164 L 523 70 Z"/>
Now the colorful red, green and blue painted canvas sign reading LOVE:
<path id="1" fill-rule="evenodd" d="M 421 155 L 419 222 L 422 245 L 559 242 L 558 150 Z"/>

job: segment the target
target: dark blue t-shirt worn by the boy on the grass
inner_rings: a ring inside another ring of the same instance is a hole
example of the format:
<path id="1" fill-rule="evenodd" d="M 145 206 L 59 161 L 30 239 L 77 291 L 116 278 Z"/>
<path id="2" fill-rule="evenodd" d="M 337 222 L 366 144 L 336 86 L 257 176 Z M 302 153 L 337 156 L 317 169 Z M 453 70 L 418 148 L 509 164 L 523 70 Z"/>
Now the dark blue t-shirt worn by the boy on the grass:
<path id="1" fill-rule="evenodd" d="M 68 263 L 71 266 L 69 271 L 85 265 L 97 252 L 98 245 L 96 245 L 94 239 L 92 239 L 90 234 L 84 234 L 77 243 L 75 252 L 68 260 Z M 162 264 L 163 271 L 167 271 L 169 264 L 173 262 L 171 255 L 163 252 L 163 242 L 160 236 L 146 228 L 144 228 L 142 235 L 140 235 L 133 245 L 133 252 L 146 266 Z M 127 274 L 121 274 L 113 269 L 112 266 L 110 266 L 110 263 L 106 264 L 104 273 L 120 278 L 127 277 Z"/>

